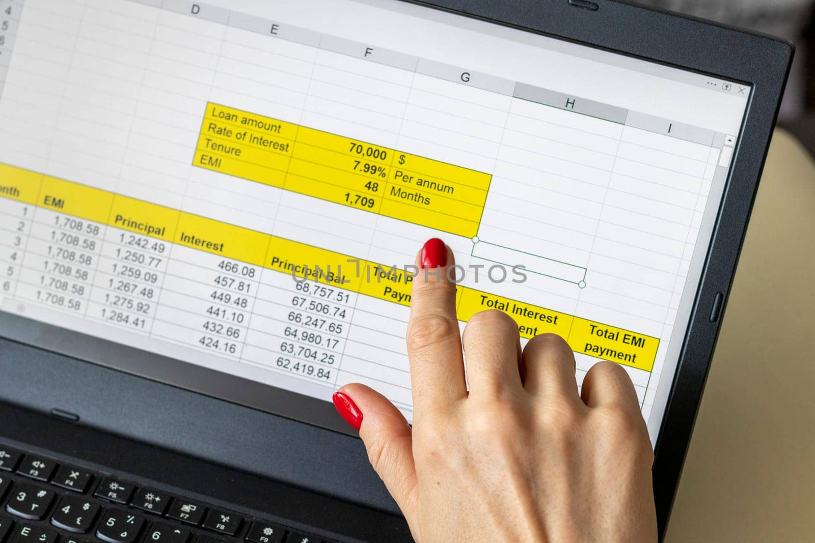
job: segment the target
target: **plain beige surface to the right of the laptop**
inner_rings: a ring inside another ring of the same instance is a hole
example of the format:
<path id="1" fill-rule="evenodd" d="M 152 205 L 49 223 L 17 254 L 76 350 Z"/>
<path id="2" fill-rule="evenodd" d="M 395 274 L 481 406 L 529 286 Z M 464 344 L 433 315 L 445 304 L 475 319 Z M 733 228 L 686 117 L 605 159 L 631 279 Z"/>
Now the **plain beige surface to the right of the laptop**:
<path id="1" fill-rule="evenodd" d="M 667 529 L 815 541 L 815 162 L 777 131 Z"/>

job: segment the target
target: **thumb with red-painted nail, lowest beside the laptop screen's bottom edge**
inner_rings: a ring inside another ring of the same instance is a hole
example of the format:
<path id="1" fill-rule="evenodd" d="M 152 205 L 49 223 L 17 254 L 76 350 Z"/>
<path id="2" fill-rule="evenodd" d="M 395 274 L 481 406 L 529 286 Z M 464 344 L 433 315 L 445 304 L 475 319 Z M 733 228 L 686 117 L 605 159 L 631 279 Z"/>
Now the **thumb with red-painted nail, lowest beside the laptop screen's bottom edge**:
<path id="1" fill-rule="evenodd" d="M 416 466 L 407 419 L 385 396 L 359 383 L 342 387 L 333 401 L 346 423 L 359 430 L 371 466 L 411 523 L 416 510 Z"/>

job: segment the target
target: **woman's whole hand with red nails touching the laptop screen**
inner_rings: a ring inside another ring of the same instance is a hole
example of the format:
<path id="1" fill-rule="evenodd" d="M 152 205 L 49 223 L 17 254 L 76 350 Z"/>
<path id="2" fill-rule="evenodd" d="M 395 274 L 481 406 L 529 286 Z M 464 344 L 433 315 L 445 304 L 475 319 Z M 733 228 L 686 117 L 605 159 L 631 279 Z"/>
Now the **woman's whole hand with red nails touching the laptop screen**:
<path id="1" fill-rule="evenodd" d="M 522 352 L 500 311 L 461 338 L 452 252 L 431 239 L 416 264 L 441 273 L 413 280 L 413 428 L 361 384 L 334 397 L 416 541 L 655 541 L 654 455 L 628 374 L 600 362 L 579 395 L 566 342 L 539 335 Z"/>

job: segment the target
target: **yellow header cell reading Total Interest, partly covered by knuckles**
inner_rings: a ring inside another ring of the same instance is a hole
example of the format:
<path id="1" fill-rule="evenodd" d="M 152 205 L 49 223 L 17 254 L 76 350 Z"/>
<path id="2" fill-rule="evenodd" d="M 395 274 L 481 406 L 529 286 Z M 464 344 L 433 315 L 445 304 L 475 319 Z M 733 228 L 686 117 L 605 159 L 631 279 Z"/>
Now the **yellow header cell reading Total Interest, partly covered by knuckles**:
<path id="1" fill-rule="evenodd" d="M 522 337 L 527 339 L 549 333 L 565 338 L 569 335 L 572 319 L 575 318 L 566 313 L 558 313 L 518 300 L 488 294 L 474 288 L 459 287 L 459 289 L 462 291 L 458 307 L 459 320 L 469 321 L 479 311 L 500 309 L 518 322 L 518 331 L 521 332 Z"/>

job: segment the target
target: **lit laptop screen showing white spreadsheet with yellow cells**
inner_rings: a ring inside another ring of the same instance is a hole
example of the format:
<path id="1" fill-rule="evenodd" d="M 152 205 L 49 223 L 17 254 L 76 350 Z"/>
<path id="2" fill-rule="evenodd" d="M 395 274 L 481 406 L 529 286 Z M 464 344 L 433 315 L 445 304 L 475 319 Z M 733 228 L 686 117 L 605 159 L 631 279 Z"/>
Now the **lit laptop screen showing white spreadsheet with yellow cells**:
<path id="1" fill-rule="evenodd" d="M 657 436 L 748 85 L 396 0 L 3 5 L 2 311 L 410 418 L 440 237 L 462 327 L 620 364 Z"/>

